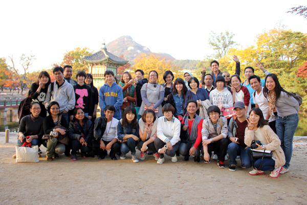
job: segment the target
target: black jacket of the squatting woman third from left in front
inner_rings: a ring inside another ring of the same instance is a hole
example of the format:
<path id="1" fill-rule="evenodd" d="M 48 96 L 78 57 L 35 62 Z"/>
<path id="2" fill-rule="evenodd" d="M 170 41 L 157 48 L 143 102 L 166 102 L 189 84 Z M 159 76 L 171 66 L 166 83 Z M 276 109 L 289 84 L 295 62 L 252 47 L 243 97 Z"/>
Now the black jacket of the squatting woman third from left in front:
<path id="1" fill-rule="evenodd" d="M 91 120 L 87 119 L 87 117 L 84 118 L 84 125 L 83 125 L 83 131 L 84 131 L 84 141 L 87 143 L 88 141 L 91 141 L 93 138 L 93 123 Z M 79 122 L 78 122 L 79 124 Z M 80 126 L 80 125 L 79 125 Z M 71 139 L 77 139 L 78 141 L 82 137 L 81 135 L 81 129 L 78 125 L 75 125 L 74 122 L 69 122 L 69 131 L 68 136 Z"/>

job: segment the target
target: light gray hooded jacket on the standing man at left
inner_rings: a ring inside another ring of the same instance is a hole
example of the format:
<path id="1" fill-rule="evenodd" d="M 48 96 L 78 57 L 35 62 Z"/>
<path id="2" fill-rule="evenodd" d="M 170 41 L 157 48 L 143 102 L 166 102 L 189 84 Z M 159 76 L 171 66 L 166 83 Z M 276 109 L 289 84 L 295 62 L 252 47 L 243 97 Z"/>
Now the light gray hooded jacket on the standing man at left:
<path id="1" fill-rule="evenodd" d="M 53 91 L 51 90 L 51 84 L 48 87 L 45 107 L 46 109 L 49 106 L 49 103 L 52 101 L 57 101 L 60 105 L 60 113 L 66 110 L 67 112 L 75 108 L 76 97 L 75 90 L 68 81 L 64 80 L 63 85 L 58 88 L 56 80 L 54 81 Z"/>

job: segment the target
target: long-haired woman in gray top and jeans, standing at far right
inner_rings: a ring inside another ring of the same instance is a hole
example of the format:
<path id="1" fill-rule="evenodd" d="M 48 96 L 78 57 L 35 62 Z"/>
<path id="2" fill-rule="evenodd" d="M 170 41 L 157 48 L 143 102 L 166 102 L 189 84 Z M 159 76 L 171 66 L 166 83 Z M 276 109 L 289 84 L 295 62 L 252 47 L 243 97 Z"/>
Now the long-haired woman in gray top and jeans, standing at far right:
<path id="1" fill-rule="evenodd" d="M 264 95 L 268 98 L 269 114 L 267 119 L 276 115 L 276 131 L 281 141 L 281 148 L 286 156 L 286 164 L 280 174 L 289 172 L 292 156 L 292 141 L 298 125 L 298 101 L 286 90 L 284 90 L 275 74 L 271 73 L 266 77 Z"/>

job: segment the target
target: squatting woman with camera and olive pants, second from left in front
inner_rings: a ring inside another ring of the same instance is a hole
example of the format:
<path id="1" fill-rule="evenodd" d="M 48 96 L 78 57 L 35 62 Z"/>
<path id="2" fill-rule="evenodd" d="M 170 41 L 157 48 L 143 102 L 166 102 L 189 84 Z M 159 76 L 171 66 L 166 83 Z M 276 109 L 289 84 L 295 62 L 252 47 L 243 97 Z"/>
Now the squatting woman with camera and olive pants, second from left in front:
<path id="1" fill-rule="evenodd" d="M 45 136 L 49 135 L 49 138 L 42 143 L 43 146 L 47 148 L 46 157 L 48 161 L 53 160 L 52 156 L 58 158 L 59 154 L 65 152 L 65 145 L 59 141 L 62 141 L 62 139 L 65 138 L 65 135 L 67 136 L 68 125 L 65 117 L 58 115 L 59 110 L 59 104 L 56 101 L 52 101 L 47 109 L 49 115 L 43 119 L 43 132 L 45 133 Z M 63 135 L 63 138 L 59 137 Z"/>

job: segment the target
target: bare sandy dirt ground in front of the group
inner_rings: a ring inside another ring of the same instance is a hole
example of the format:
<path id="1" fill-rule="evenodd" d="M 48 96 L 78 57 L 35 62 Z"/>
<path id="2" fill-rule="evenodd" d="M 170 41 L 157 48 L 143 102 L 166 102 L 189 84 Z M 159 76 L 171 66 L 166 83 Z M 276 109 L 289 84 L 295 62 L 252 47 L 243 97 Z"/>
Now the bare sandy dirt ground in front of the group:
<path id="1" fill-rule="evenodd" d="M 307 204 L 307 142 L 294 141 L 290 172 L 279 178 L 251 176 L 251 169 L 219 169 L 205 164 L 173 163 L 166 157 L 157 165 L 153 156 L 133 163 L 68 157 L 47 161 L 46 149 L 38 163 L 16 163 L 12 155 L 17 134 L 4 144 L 0 133 L 1 204 Z M 137 152 L 137 156 L 140 152 Z"/>

